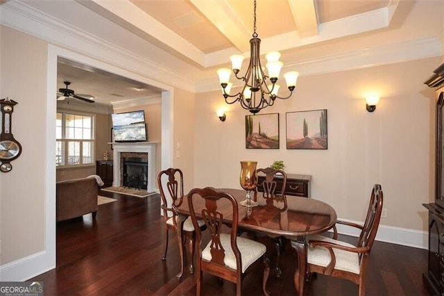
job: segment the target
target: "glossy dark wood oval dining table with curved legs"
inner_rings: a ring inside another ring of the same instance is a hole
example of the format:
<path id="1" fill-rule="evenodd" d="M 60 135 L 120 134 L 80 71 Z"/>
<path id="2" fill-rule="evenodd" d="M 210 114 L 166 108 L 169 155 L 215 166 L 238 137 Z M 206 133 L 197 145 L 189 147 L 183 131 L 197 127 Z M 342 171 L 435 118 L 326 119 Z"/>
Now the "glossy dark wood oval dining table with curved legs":
<path id="1" fill-rule="evenodd" d="M 232 188 L 218 188 L 219 191 L 230 193 L 238 202 L 246 199 L 246 191 Z M 261 193 L 259 193 L 261 195 Z M 284 199 L 287 199 L 287 206 L 285 206 Z M 323 233 L 331 229 L 336 223 L 336 211 L 332 206 L 321 202 L 317 199 L 307 197 L 285 197 L 280 196 L 273 200 L 266 201 L 258 198 L 258 206 L 253 208 L 246 208 L 239 204 L 239 229 L 247 231 L 256 231 L 257 233 L 264 233 L 269 236 L 284 236 L 295 243 L 291 246 L 296 250 L 298 256 L 298 268 L 294 274 L 294 284 L 296 293 L 303 295 L 304 284 L 307 272 L 307 242 L 306 236 L 317 233 Z M 187 203 L 187 196 L 182 200 L 178 199 L 175 204 L 179 213 L 179 225 L 181 225 L 189 215 L 189 208 Z M 230 224 L 232 220 L 231 209 L 219 208 L 219 211 L 225 211 L 223 217 L 224 222 Z M 198 213 L 198 204 L 195 204 L 196 213 Z M 178 227 L 178 242 L 181 256 L 181 271 L 178 274 L 182 276 L 185 267 L 185 256 L 182 245 L 182 231 Z"/>

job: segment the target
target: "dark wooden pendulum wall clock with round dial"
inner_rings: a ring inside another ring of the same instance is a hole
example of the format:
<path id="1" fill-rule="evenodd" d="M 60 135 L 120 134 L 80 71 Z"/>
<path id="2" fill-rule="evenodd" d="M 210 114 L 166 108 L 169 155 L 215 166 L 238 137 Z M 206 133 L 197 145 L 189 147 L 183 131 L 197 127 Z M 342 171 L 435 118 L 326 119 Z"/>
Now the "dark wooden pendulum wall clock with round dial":
<path id="1" fill-rule="evenodd" d="M 19 157 L 22 153 L 22 145 L 15 140 L 12 135 L 12 112 L 16 101 L 11 99 L 1 99 L 1 133 L 0 133 L 0 171 L 10 172 L 12 170 L 11 161 Z"/>

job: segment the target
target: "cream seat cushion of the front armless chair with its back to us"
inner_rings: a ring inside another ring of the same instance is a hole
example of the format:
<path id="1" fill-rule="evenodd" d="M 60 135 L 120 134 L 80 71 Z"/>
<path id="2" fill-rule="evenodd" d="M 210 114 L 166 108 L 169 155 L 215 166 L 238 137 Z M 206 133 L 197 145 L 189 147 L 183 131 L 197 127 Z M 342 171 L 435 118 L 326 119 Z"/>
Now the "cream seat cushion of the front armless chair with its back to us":
<path id="1" fill-rule="evenodd" d="M 225 249 L 225 257 L 223 258 L 223 262 L 229 268 L 236 270 L 236 257 L 234 256 L 234 252 L 232 251 L 230 240 L 231 238 L 229 234 L 221 233 L 221 244 L 223 249 Z M 257 258 L 265 254 L 266 246 L 255 240 L 249 240 L 248 238 L 242 238 L 240 236 L 238 236 L 236 240 L 237 247 L 241 252 L 242 272 L 245 272 L 248 266 L 254 263 Z M 202 258 L 205 261 L 211 261 L 212 259 L 210 247 L 211 243 L 212 241 L 210 240 L 207 247 L 205 247 L 205 249 L 203 249 L 202 251 Z"/>

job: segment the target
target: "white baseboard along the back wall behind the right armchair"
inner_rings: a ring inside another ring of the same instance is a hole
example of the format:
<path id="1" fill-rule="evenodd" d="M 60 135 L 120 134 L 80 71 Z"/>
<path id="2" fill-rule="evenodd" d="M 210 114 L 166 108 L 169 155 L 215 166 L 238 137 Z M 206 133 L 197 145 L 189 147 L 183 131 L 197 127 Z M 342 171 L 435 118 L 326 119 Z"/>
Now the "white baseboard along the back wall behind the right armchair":
<path id="1" fill-rule="evenodd" d="M 344 220 L 344 219 L 341 220 L 362 224 L 362 222 L 359 221 Z M 338 224 L 336 228 L 338 229 L 338 232 L 341 234 L 345 234 L 348 236 L 359 236 L 359 229 L 355 229 L 353 227 L 347 227 L 341 224 Z M 428 249 L 429 233 L 427 233 L 427 231 L 392 227 L 379 224 L 379 229 L 377 230 L 377 235 L 375 240 L 380 242 L 390 242 L 391 244 L 396 244 L 396 245 L 404 245 L 407 247 Z"/>

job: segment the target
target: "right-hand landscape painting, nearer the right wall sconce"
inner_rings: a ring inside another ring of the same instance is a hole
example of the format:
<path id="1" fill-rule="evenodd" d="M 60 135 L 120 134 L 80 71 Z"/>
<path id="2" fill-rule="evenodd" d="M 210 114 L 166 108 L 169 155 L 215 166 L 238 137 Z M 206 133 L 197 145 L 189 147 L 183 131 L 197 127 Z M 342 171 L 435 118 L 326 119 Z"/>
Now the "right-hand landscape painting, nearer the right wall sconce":
<path id="1" fill-rule="evenodd" d="M 287 149 L 327 149 L 327 109 L 287 112 Z"/>

